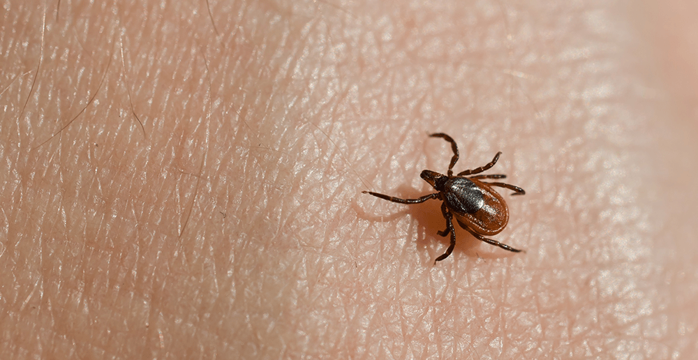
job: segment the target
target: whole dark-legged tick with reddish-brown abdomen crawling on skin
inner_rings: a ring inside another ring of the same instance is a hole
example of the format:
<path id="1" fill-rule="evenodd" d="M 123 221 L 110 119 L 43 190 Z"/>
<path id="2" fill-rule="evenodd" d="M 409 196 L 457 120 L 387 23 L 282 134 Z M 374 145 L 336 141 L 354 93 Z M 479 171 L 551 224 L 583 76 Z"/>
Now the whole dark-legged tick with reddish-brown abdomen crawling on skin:
<path id="1" fill-rule="evenodd" d="M 459 172 L 454 175 L 453 167 L 456 165 L 456 161 L 458 161 L 458 145 L 456 145 L 452 137 L 444 133 L 436 133 L 429 136 L 442 137 L 444 140 L 451 143 L 451 149 L 453 149 L 453 157 L 451 158 L 451 163 L 448 165 L 448 172 L 446 175 L 431 170 L 423 170 L 422 174 L 419 175 L 436 190 L 436 193 L 424 195 L 418 199 L 400 199 L 399 197 L 373 193 L 371 191 L 362 191 L 362 193 L 371 194 L 399 204 L 419 204 L 429 199 L 441 200 L 441 213 L 443 213 L 443 218 L 446 219 L 446 229 L 438 231 L 437 234 L 442 237 L 451 234 L 451 243 L 446 249 L 446 252 L 434 260 L 434 264 L 449 257 L 453 252 L 454 246 L 456 246 L 456 230 L 453 227 L 453 218 L 456 218 L 456 222 L 458 222 L 463 229 L 468 230 L 470 234 L 473 234 L 473 237 L 476 239 L 493 246 L 499 246 L 513 253 L 520 253 L 521 250 L 519 249 L 486 238 L 486 236 L 492 236 L 502 232 L 509 222 L 507 203 L 504 201 L 502 195 L 499 195 L 499 193 L 493 189 L 493 186 L 514 190 L 512 195 L 526 194 L 526 191 L 519 188 L 519 186 L 508 183 L 482 181 L 484 179 L 504 179 L 507 177 L 504 174 L 475 175 L 493 167 L 494 164 L 497 163 L 497 160 L 499 160 L 499 156 L 502 152 L 499 151 L 487 165 L 477 167 L 473 170 Z"/>

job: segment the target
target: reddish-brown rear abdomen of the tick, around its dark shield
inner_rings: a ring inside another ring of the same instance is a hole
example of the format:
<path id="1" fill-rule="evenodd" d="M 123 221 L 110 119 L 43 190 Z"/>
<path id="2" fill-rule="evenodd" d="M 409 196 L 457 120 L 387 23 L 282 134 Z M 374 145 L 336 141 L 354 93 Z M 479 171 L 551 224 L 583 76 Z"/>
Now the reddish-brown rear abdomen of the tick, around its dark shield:
<path id="1" fill-rule="evenodd" d="M 473 213 L 461 213 L 452 211 L 456 219 L 462 225 L 466 225 L 481 235 L 496 235 L 504 230 L 509 222 L 509 209 L 504 202 L 502 195 L 499 195 L 487 183 L 483 183 L 477 179 L 469 179 L 475 185 L 482 189 L 483 204 L 482 207 Z"/>

